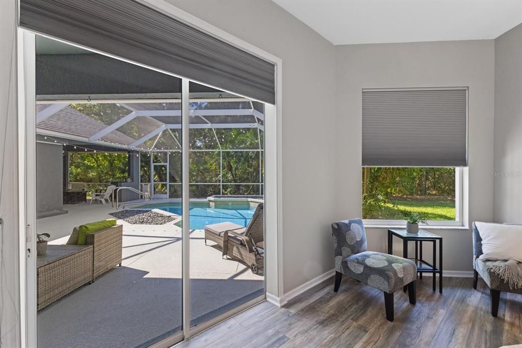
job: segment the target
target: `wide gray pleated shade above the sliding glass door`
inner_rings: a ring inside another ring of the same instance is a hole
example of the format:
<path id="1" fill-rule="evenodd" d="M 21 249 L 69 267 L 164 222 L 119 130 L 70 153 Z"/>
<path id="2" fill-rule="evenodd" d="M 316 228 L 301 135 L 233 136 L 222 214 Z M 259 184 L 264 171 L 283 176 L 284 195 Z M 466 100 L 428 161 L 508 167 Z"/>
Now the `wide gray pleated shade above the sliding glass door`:
<path id="1" fill-rule="evenodd" d="M 133 0 L 21 0 L 20 26 L 275 103 L 275 67 Z"/>

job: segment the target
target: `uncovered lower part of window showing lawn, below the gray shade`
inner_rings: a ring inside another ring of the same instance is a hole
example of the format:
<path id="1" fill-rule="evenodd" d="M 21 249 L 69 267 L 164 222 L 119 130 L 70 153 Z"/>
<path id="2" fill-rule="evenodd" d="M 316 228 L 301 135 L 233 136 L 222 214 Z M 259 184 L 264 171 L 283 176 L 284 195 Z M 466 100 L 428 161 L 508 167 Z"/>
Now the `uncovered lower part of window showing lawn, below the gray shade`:
<path id="1" fill-rule="evenodd" d="M 363 167 L 362 216 L 372 224 L 425 213 L 430 225 L 460 224 L 460 168 Z"/>

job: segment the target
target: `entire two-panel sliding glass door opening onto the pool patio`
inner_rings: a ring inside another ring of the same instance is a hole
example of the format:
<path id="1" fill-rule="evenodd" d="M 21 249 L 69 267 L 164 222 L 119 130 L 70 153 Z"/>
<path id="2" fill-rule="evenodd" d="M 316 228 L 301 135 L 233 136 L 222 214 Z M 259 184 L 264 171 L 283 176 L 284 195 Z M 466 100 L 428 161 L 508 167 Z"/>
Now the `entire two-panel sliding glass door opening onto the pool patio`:
<path id="1" fill-rule="evenodd" d="M 43 36 L 26 51 L 38 345 L 168 345 L 263 300 L 263 103 Z"/>

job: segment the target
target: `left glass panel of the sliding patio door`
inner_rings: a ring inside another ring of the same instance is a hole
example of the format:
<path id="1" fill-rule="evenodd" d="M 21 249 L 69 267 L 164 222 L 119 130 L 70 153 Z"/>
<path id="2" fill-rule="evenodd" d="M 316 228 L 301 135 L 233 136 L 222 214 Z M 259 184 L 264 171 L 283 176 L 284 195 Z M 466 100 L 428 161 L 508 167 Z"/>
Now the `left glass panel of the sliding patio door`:
<path id="1" fill-rule="evenodd" d="M 38 346 L 181 339 L 181 195 L 154 205 L 182 185 L 164 119 L 181 125 L 181 78 L 41 36 L 34 49 Z"/>

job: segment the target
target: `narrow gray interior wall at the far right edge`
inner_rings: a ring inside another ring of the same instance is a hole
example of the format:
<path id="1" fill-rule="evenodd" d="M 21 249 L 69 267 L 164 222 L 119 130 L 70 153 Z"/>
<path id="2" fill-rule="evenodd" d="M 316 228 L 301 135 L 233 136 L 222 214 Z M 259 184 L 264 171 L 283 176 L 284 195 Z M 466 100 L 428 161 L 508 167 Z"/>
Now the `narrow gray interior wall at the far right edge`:
<path id="1" fill-rule="evenodd" d="M 522 224 L 522 24 L 495 39 L 493 218 Z"/>

